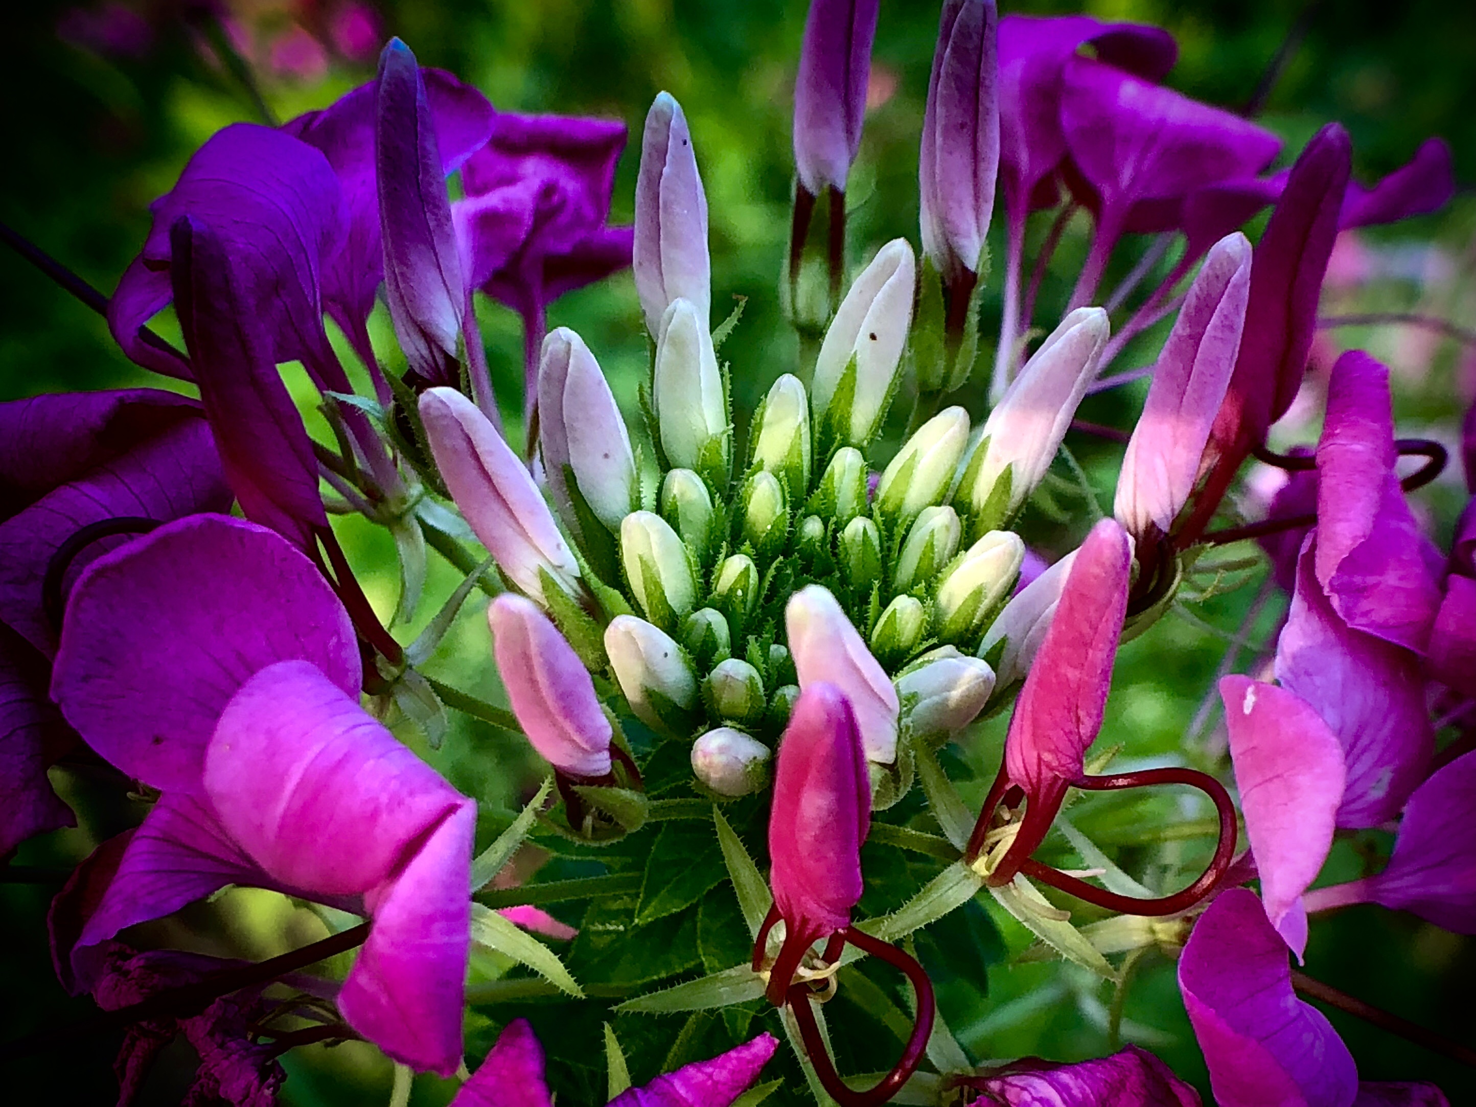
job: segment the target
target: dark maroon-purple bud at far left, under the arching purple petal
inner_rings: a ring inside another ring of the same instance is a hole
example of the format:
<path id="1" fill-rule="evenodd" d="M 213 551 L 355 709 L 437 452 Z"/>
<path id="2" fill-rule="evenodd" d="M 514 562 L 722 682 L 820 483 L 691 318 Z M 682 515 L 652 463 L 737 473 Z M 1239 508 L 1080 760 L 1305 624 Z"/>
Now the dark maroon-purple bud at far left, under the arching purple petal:
<path id="1" fill-rule="evenodd" d="M 229 244 L 182 218 L 171 235 L 174 300 L 226 480 L 246 518 L 304 551 L 328 528 L 317 459 L 269 353 Z"/>

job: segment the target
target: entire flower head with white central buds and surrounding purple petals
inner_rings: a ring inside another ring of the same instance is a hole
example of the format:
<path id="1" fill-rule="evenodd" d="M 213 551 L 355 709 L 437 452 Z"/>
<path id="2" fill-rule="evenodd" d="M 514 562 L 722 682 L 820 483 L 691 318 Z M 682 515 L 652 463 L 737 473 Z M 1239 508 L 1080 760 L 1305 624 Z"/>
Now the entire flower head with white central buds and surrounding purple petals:
<path id="1" fill-rule="evenodd" d="M 1266 438 L 1302 387 L 1339 229 L 1438 208 L 1448 151 L 1362 187 L 1330 124 L 1269 174 L 1275 136 L 1160 83 L 1176 53 L 1166 32 L 945 0 L 921 260 L 894 239 L 847 280 L 846 180 L 877 16 L 875 0 L 810 9 L 785 291 L 806 341 L 751 413 L 734 410 L 729 373 L 753 368 L 720 360 L 741 320 L 714 325 L 680 105 L 663 93 L 651 106 L 635 226 L 610 227 L 623 125 L 497 112 L 399 40 L 376 80 L 334 105 L 224 128 L 156 201 L 108 322 L 198 403 L 142 390 L 0 404 L 0 849 L 68 821 L 46 768 L 80 744 L 148 799 L 142 825 L 58 894 L 53 952 L 72 990 L 120 1018 L 168 1014 L 170 1033 L 207 1044 L 199 1094 L 270 1103 L 283 1051 L 348 1038 L 465 1076 L 474 1004 L 502 1029 L 456 1103 L 508 1103 L 515 1085 L 520 1103 L 549 1104 L 542 1048 L 514 1008 L 531 998 L 545 1005 L 530 1018 L 552 1013 L 543 1033 L 567 1017 L 580 1049 L 593 1048 L 582 1011 L 723 1010 L 725 1052 L 701 1060 L 682 1032 L 675 1072 L 639 1089 L 607 1023 L 608 1095 L 623 1107 L 726 1107 L 778 1046 L 756 1018 L 782 1027 L 799 1063 L 785 1075 L 821 1103 L 1197 1103 L 1137 1046 L 980 1069 L 940 1017 L 921 939 L 987 893 L 1119 986 L 1108 953 L 1178 958 L 1227 1107 L 1442 1101 L 1430 1085 L 1361 1089 L 1331 1026 L 1296 998 L 1289 952 L 1303 952 L 1309 917 L 1358 902 L 1476 931 L 1476 751 L 1469 729 L 1436 750 L 1430 714 L 1445 726 L 1476 703 L 1476 515 L 1448 556 L 1424 536 L 1405 492 L 1444 450 L 1395 437 L 1389 373 L 1364 353 L 1333 368 L 1315 449 L 1280 455 Z M 996 187 L 1002 323 L 974 388 Z M 804 283 L 821 196 L 830 300 L 815 328 Z M 1241 227 L 1265 207 L 1252 245 Z M 1076 214 L 1092 238 L 1064 316 L 1035 341 L 1026 224 L 1041 210 L 1058 215 L 1038 270 Z M 1119 251 L 1148 233 L 1157 245 L 1092 306 Z M 558 295 L 627 264 L 652 348 L 641 427 L 596 351 L 548 329 Z M 523 317 L 525 455 L 503 430 L 477 292 Z M 372 341 L 381 298 L 393 350 Z M 168 304 L 183 351 L 149 329 Z M 1111 373 L 1169 316 L 1153 365 Z M 370 396 L 354 393 L 325 317 Z M 277 366 L 292 360 L 320 390 L 332 443 L 288 396 Z M 1119 435 L 1111 515 L 1044 565 L 1024 534 L 1079 404 L 1150 373 Z M 1432 461 L 1401 480 L 1405 455 Z M 1278 503 L 1308 511 L 1244 524 L 1228 493 L 1250 458 L 1289 471 Z M 391 618 L 356 582 L 331 512 L 393 534 Z M 1290 610 L 1274 669 L 1219 682 L 1228 760 L 1185 747 L 1104 773 L 1113 754 L 1089 750 L 1120 642 L 1224 574 L 1213 551 L 1256 537 Z M 428 549 L 465 582 L 401 642 Z M 478 589 L 511 711 L 422 672 Z M 477 800 L 421 756 L 447 710 L 525 735 L 551 766 L 523 813 L 494 813 L 480 853 Z M 1007 710 L 998 773 L 970 810 L 940 750 Z M 1061 818 L 1083 793 L 1169 785 L 1207 799 L 1178 809 L 1210 816 L 1188 831 L 1193 878 L 1145 887 Z M 1390 825 L 1386 865 L 1314 887 L 1336 834 Z M 1038 856 L 1060 853 L 1052 834 L 1091 871 Z M 934 862 L 892 911 L 862 909 L 868 838 Z M 492 887 L 524 843 L 555 858 L 548 872 Z M 260 965 L 120 940 L 230 884 L 317 905 L 329 936 Z M 1038 884 L 1114 917 L 1072 925 Z M 579 927 L 539 903 L 576 905 Z M 559 956 L 534 934 L 574 945 Z M 341 980 L 303 976 L 354 948 Z M 912 1024 L 893 1064 L 843 1079 L 822 1004 L 863 958 L 878 995 L 878 962 L 906 977 Z M 123 1066 L 134 1080 L 139 1049 Z"/>

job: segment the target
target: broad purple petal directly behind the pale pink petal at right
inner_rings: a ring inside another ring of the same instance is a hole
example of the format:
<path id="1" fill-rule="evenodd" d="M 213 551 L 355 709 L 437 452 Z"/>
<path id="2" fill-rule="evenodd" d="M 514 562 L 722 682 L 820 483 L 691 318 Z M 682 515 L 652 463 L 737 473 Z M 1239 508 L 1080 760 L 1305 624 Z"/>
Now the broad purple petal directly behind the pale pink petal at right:
<path id="1" fill-rule="evenodd" d="M 1277 641 L 1277 679 L 1322 717 L 1343 747 L 1348 782 L 1339 827 L 1379 827 L 1399 813 L 1435 751 L 1415 654 L 1349 627 L 1302 552 Z"/>

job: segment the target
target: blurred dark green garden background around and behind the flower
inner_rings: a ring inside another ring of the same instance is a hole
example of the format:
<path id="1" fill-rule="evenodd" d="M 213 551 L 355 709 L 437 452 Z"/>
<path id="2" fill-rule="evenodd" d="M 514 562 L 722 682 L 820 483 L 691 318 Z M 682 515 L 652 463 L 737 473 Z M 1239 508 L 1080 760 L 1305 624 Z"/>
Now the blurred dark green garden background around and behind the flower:
<path id="1" fill-rule="evenodd" d="M 714 316 L 728 295 L 747 297 L 747 313 L 723 353 L 732 357 L 735 403 L 753 403 L 794 366 L 796 347 L 778 310 L 778 275 L 788 235 L 793 159 L 791 87 L 804 3 L 676 3 L 675 0 L 401 0 L 369 7 L 303 0 L 236 0 L 226 6 L 242 52 L 279 118 L 328 103 L 366 80 L 384 35 L 399 34 L 422 63 L 452 69 L 480 86 L 503 109 L 595 114 L 624 120 L 639 137 L 651 97 L 672 92 L 686 109 L 711 211 Z M 1007 10 L 1069 12 L 1061 4 L 1010 4 Z M 1441 0 L 1398 4 L 1222 0 L 1173 4 L 1104 0 L 1092 15 L 1168 27 L 1181 58 L 1169 83 L 1193 96 L 1238 108 L 1268 62 L 1293 34 L 1299 43 L 1277 81 L 1262 121 L 1292 151 L 1327 120 L 1342 120 L 1355 143 L 1355 173 L 1364 180 L 1407 161 L 1429 134 L 1454 146 L 1457 201 L 1433 217 L 1380 229 L 1351 242 L 1348 263 L 1330 291 L 1346 310 L 1429 310 L 1476 323 L 1472 269 L 1476 257 L 1476 6 Z M 255 120 L 244 86 L 202 49 L 198 6 L 189 3 L 32 3 L 7 13 L 4 143 L 10 170 L 0 182 L 0 220 L 16 227 L 103 291 L 139 248 L 148 204 L 167 190 L 190 152 L 235 120 Z M 850 187 L 850 261 L 862 263 L 897 235 L 917 242 L 917 136 L 937 27 L 936 3 L 883 0 L 872 74 L 874 108 Z M 636 151 L 627 149 L 615 184 L 614 221 L 632 215 Z M 998 235 L 996 235 L 998 238 Z M 1070 238 L 1042 291 L 1038 320 L 1064 301 L 1085 241 Z M 1001 255 L 995 244 L 995 255 Z M 1128 258 L 1131 261 L 1131 258 Z M 159 385 L 112 345 L 102 320 L 10 252 L 0 252 L 0 399 L 41 391 Z M 984 337 L 992 332 L 986 301 Z M 565 297 L 551 325 L 580 331 L 633 412 L 636 384 L 648 365 L 646 339 L 629 275 Z M 518 407 L 521 332 L 515 317 L 484 306 L 483 332 L 509 415 Z M 1454 440 L 1461 410 L 1476 388 L 1476 362 L 1452 342 L 1410 331 L 1337 332 L 1367 342 L 1395 369 L 1401 428 Z M 1328 347 L 1330 348 L 1330 347 Z M 1119 368 L 1148 360 L 1151 342 L 1129 348 Z M 1321 350 L 1320 357 L 1325 353 Z M 1469 354 L 1470 351 L 1467 351 Z M 987 360 L 986 356 L 982 360 Z M 964 401 L 982 410 L 979 388 Z M 1125 427 L 1141 393 L 1089 401 L 1085 418 Z M 1293 421 L 1294 422 L 1294 421 Z M 1294 425 L 1315 434 L 1315 416 Z M 1110 502 L 1119 447 L 1072 440 L 1100 497 Z M 1463 502 L 1458 474 L 1420 493 L 1421 511 L 1445 533 Z M 1073 505 L 1080 509 L 1080 505 Z M 393 604 L 393 546 L 382 534 L 350 524 L 347 539 L 378 604 Z M 1033 537 L 1064 548 L 1066 531 L 1036 520 Z M 441 571 L 444 593 L 453 577 Z M 1184 618 L 1165 620 L 1125 648 L 1117 667 L 1104 741 L 1125 742 L 1139 757 L 1178 747 L 1210 686 L 1225 649 L 1256 595 L 1256 582 L 1196 608 L 1213 630 Z M 1249 641 L 1265 642 L 1281 599 L 1272 596 L 1253 620 Z M 422 607 L 422 620 L 430 605 Z M 1240 661 L 1255 663 L 1249 652 Z M 496 698 L 484 623 L 466 618 L 437 661 L 447 679 Z M 1213 742 L 1213 717 L 1200 729 Z M 982 728 L 956 768 L 992 775 L 1002 728 Z M 462 723 L 435 762 L 462 788 L 490 804 L 514 803 L 536 769 L 521 750 Z M 974 782 L 976 785 L 979 781 Z M 137 810 L 102 803 L 69 782 L 84 815 L 65 831 L 22 849 L 19 861 L 69 865 L 100 837 L 117 832 Z M 971 785 L 973 787 L 973 785 Z M 1123 822 L 1101 812 L 1103 827 Z M 1091 819 L 1083 804 L 1082 821 Z M 1365 835 L 1373 840 L 1377 835 Z M 1358 871 L 1361 844 L 1339 846 L 1334 866 Z M 868 865 L 886 865 L 886 858 Z M 44 937 L 50 889 L 0 886 L 0 942 L 6 1002 L 0 1039 L 84 1017 L 90 1001 L 71 1001 L 52 977 Z M 279 897 L 232 893 L 232 912 L 184 912 L 155 930 L 161 942 L 263 956 L 307 940 L 317 924 Z M 1013 924 L 1011 924 L 1013 925 Z M 1010 953 L 1023 931 L 1002 927 Z M 979 1058 L 1041 1054 L 1075 1060 L 1107 1048 L 1110 993 L 1077 983 L 1049 965 L 1005 964 L 1005 948 L 989 948 L 987 995 L 971 996 L 970 1018 L 955 1024 Z M 1355 908 L 1312 928 L 1306 971 L 1373 1004 L 1476 1041 L 1476 943 L 1407 915 Z M 490 1013 L 496 1015 L 496 1013 Z M 837 1015 L 843 1015 L 837 1013 Z M 1154 1048 L 1182 1075 L 1203 1085 L 1172 964 L 1147 959 L 1129 993 L 1126 1038 Z M 1333 1013 L 1364 1079 L 1435 1079 L 1452 1103 L 1476 1101 L 1476 1075 L 1389 1033 Z M 958 1020 L 955 1020 L 956 1023 Z M 679 1023 L 672 1020 L 675 1036 Z M 109 1103 L 117 1038 L 87 1038 L 68 1049 L 24 1061 L 7 1086 L 27 1089 L 15 1103 Z M 556 1051 L 556 1048 L 555 1048 Z M 179 1046 L 174 1049 L 179 1052 Z M 657 1058 L 660 1060 L 660 1058 Z M 298 1051 L 289 1061 L 283 1101 L 292 1104 L 381 1103 L 388 1066 L 357 1046 Z M 601 1066 L 598 1057 L 589 1064 Z M 189 1070 L 187 1049 L 167 1057 L 145 1089 L 145 1103 L 177 1103 Z M 654 1072 L 635 1072 L 638 1079 Z M 3 1086 L 3 1085 L 0 1085 Z M 444 1101 L 449 1088 L 416 1083 L 416 1103 Z M 1207 1089 L 1206 1089 L 1207 1091 Z"/>

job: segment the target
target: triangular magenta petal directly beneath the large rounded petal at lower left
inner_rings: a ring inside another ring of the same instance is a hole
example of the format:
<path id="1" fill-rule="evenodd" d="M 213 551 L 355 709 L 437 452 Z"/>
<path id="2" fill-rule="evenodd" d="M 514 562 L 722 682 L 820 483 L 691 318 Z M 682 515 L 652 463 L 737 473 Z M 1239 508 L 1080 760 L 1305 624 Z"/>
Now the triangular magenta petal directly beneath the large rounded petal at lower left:
<path id="1" fill-rule="evenodd" d="M 280 887 L 230 840 L 205 803 L 165 793 L 134 831 L 77 948 L 94 946 L 136 922 L 171 915 L 227 884 Z"/>

